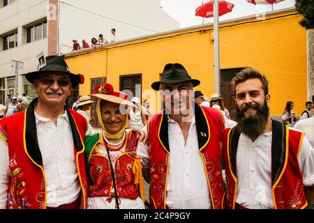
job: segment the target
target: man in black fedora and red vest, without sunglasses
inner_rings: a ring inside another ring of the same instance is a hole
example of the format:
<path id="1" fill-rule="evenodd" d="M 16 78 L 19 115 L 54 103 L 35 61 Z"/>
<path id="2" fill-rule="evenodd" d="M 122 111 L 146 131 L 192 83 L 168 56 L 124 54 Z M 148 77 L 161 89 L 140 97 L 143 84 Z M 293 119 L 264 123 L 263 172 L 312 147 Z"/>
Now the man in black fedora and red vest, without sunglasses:
<path id="1" fill-rule="evenodd" d="M 147 123 L 151 208 L 224 208 L 221 148 L 225 119 L 193 102 L 192 79 L 184 66 L 168 63 L 151 84 L 165 105 Z M 148 149 L 148 148 L 147 148 Z"/>

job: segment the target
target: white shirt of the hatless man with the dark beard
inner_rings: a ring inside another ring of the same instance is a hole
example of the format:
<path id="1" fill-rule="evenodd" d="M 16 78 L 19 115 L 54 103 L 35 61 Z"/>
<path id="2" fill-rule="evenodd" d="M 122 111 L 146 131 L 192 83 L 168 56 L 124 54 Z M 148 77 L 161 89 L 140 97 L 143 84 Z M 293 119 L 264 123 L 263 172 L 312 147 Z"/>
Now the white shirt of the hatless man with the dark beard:
<path id="1" fill-rule="evenodd" d="M 237 203 L 250 209 L 274 208 L 271 192 L 271 136 L 267 132 L 255 141 L 245 134 L 237 150 Z M 298 157 L 304 186 L 314 184 L 314 150 L 304 137 Z"/>

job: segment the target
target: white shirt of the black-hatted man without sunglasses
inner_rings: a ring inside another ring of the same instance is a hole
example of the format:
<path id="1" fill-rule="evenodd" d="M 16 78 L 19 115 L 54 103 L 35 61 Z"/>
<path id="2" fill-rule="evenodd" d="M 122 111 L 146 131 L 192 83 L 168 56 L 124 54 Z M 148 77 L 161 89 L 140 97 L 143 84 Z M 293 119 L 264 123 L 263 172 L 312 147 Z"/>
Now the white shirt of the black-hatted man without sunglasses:
<path id="1" fill-rule="evenodd" d="M 211 208 L 206 171 L 198 148 L 195 117 L 188 130 L 186 145 L 179 124 L 171 118 L 168 118 L 168 137 L 171 152 L 166 189 L 167 208 Z M 149 157 L 144 159 L 149 160 Z"/>

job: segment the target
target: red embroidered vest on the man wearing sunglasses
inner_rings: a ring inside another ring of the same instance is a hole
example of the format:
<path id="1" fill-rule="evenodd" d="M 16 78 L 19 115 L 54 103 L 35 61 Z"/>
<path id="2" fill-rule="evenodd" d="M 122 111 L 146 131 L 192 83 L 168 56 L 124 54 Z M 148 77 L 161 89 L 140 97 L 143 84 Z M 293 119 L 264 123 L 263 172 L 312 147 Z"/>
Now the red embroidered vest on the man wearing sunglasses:
<path id="1" fill-rule="evenodd" d="M 80 185 L 82 187 L 81 207 L 87 206 L 87 175 L 84 164 L 84 135 L 87 122 L 83 116 L 70 110 L 73 148 Z M 8 185 L 8 209 L 45 209 L 47 185 L 40 150 L 38 148 L 35 117 L 33 110 L 27 108 L 0 121 L 2 139 L 8 144 L 8 160 L 11 172 Z"/>

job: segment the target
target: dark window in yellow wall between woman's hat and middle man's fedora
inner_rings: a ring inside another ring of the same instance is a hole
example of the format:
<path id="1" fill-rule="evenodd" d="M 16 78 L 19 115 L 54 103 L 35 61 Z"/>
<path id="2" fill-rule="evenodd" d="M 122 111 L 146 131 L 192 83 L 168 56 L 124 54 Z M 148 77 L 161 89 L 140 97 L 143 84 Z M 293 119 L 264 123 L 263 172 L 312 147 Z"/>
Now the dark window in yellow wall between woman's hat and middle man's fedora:
<path id="1" fill-rule="evenodd" d="M 120 76 L 120 91 L 128 91 L 128 98 L 138 97 L 142 100 L 142 75 Z"/>

